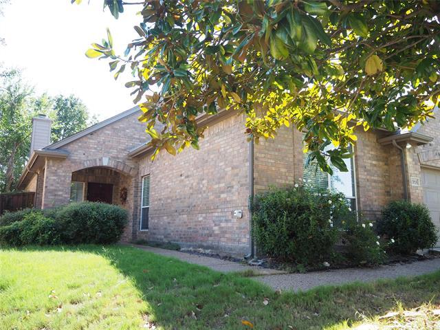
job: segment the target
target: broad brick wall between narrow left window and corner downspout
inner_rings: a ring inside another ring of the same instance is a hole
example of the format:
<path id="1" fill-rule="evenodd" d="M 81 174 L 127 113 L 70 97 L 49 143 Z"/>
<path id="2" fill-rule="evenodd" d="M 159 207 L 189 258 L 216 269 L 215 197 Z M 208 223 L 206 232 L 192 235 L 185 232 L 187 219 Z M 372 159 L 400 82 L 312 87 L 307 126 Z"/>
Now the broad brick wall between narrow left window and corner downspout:
<path id="1" fill-rule="evenodd" d="M 140 159 L 135 189 L 138 239 L 174 241 L 182 245 L 248 253 L 248 142 L 245 118 L 211 124 L 200 150 L 188 148 L 177 156 L 162 152 L 151 162 Z M 149 230 L 139 230 L 140 178 L 150 175 Z M 242 210 L 243 218 L 232 215 Z"/>

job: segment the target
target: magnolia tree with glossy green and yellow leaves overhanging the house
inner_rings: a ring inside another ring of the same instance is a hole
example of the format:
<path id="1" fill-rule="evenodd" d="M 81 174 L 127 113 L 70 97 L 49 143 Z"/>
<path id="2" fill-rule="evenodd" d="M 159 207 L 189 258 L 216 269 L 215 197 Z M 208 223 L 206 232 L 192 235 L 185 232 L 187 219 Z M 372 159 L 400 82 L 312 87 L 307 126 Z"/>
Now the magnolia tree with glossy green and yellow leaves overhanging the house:
<path id="1" fill-rule="evenodd" d="M 347 170 L 357 126 L 410 128 L 438 102 L 437 0 L 134 1 L 104 0 L 115 19 L 139 8 L 124 54 L 108 33 L 86 55 L 108 58 L 115 78 L 131 70 L 155 154 L 198 148 L 197 118 L 235 110 L 256 142 L 305 131 L 309 161 L 331 173 Z"/>

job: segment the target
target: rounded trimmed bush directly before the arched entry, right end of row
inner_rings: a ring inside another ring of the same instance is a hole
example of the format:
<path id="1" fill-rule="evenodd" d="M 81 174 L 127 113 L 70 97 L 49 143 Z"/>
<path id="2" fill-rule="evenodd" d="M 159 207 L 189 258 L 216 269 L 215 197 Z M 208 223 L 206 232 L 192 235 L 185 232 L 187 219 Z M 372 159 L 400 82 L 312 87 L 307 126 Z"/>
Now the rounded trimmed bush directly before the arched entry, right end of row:
<path id="1" fill-rule="evenodd" d="M 115 243 L 127 222 L 127 212 L 106 203 L 72 203 L 56 212 L 61 241 L 68 244 Z"/>

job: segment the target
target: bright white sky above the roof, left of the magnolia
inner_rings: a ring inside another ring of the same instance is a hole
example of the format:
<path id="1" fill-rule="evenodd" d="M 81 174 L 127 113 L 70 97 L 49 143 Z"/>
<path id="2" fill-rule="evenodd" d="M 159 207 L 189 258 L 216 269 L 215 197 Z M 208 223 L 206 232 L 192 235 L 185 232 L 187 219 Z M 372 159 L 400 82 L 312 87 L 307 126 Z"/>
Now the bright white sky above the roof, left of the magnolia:
<path id="1" fill-rule="evenodd" d="M 36 94 L 50 96 L 74 94 L 90 113 L 104 120 L 134 106 L 130 80 L 125 73 L 118 80 L 109 72 L 109 61 L 91 59 L 85 51 L 91 43 L 113 36 L 115 52 L 122 54 L 127 43 L 137 36 L 133 26 L 138 6 L 125 6 L 124 14 L 114 19 L 103 0 L 10 0 L 0 17 L 0 63 L 22 69 L 23 78 Z M 129 8 L 127 8 L 129 7 Z"/>

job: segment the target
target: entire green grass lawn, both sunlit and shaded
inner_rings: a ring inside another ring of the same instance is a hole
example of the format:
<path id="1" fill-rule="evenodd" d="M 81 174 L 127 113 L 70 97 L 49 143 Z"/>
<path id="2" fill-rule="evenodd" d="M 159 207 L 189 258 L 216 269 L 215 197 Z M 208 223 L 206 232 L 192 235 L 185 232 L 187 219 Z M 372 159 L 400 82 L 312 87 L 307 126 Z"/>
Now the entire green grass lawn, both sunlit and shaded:
<path id="1" fill-rule="evenodd" d="M 439 329 L 439 294 L 440 272 L 293 294 L 126 246 L 0 250 L 2 330 Z"/>

